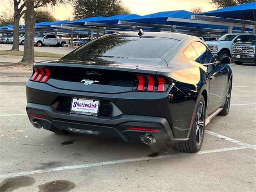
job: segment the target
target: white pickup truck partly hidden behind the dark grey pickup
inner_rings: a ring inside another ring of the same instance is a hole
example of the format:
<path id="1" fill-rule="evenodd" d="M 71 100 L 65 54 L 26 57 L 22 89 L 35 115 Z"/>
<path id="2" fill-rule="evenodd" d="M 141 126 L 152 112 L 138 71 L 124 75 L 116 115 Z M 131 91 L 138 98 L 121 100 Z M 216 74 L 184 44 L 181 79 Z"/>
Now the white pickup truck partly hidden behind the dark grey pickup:
<path id="1" fill-rule="evenodd" d="M 231 57 L 232 45 L 235 44 L 238 39 L 241 39 L 242 42 L 246 42 L 253 36 L 255 36 L 255 34 L 249 34 L 249 33 L 225 34 L 220 38 L 218 38 L 218 40 L 216 41 L 206 41 L 206 44 L 210 48 L 214 56 L 218 60 L 220 60 L 220 57 L 222 56 Z"/>

